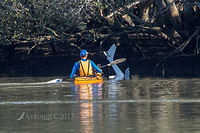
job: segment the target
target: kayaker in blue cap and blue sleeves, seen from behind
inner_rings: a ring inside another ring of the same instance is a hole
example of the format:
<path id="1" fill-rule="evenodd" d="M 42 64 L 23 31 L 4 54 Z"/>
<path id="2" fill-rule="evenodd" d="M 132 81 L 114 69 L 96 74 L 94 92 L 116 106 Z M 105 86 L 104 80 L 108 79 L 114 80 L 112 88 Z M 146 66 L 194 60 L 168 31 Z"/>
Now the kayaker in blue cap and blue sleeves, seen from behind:
<path id="1" fill-rule="evenodd" d="M 88 52 L 85 49 L 81 50 L 80 57 L 81 60 L 77 61 L 73 66 L 70 78 L 74 78 L 74 74 L 77 70 L 79 70 L 80 76 L 94 75 L 93 69 L 96 70 L 98 73 L 102 72 L 101 69 L 99 69 L 93 61 L 87 59 Z"/>

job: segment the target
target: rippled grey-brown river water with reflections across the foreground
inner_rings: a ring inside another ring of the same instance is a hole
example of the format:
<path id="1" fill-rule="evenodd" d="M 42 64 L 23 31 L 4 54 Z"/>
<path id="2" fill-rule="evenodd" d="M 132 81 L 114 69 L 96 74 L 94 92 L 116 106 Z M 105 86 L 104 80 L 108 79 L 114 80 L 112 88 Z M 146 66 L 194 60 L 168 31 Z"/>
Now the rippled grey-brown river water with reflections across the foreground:
<path id="1" fill-rule="evenodd" d="M 199 133 L 200 79 L 1 78 L 0 132 Z"/>

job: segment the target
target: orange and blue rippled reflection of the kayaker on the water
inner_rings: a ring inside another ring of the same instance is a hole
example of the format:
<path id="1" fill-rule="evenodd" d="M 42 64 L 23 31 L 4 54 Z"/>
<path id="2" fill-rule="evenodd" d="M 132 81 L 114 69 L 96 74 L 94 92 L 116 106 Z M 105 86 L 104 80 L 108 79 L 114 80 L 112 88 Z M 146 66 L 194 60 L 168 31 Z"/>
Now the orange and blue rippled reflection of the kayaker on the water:
<path id="1" fill-rule="evenodd" d="M 72 93 L 75 95 L 76 100 L 98 100 L 102 99 L 102 83 L 96 84 L 76 84 L 72 86 Z M 98 110 L 102 110 L 102 104 L 95 104 L 92 102 L 85 102 L 79 104 L 79 117 L 80 117 L 80 126 L 81 132 L 94 132 L 94 120 Z M 98 119 L 102 115 L 98 115 Z"/>

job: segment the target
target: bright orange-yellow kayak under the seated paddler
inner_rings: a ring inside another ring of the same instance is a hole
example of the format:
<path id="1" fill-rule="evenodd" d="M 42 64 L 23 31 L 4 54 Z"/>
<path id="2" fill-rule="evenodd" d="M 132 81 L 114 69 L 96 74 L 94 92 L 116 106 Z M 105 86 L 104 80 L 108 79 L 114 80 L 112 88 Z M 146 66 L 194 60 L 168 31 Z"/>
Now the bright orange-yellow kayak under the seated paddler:
<path id="1" fill-rule="evenodd" d="M 88 83 L 102 83 L 103 79 L 101 76 L 97 77 L 76 77 L 74 79 L 75 84 L 88 84 Z"/>

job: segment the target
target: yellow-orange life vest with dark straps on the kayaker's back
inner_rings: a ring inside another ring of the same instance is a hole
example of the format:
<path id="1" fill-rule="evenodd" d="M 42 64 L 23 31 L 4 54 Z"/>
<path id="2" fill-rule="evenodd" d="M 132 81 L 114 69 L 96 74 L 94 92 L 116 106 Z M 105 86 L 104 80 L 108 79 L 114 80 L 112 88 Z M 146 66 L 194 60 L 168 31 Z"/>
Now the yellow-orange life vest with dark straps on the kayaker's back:
<path id="1" fill-rule="evenodd" d="M 80 60 L 79 65 L 80 65 L 80 69 L 79 69 L 80 76 L 93 75 L 93 70 L 92 70 L 92 65 L 90 63 L 90 60 L 87 60 L 87 61 Z"/>

